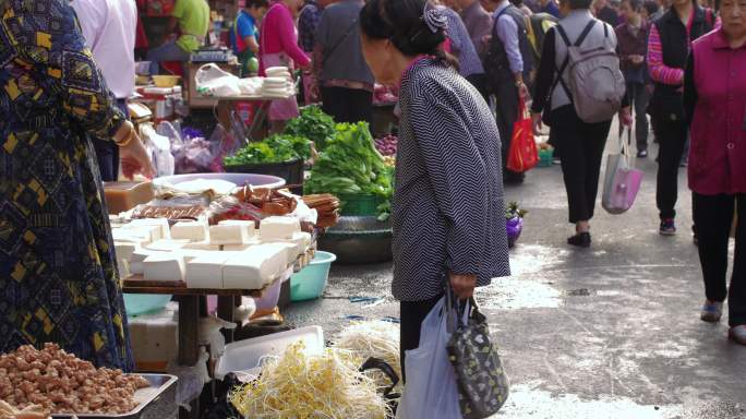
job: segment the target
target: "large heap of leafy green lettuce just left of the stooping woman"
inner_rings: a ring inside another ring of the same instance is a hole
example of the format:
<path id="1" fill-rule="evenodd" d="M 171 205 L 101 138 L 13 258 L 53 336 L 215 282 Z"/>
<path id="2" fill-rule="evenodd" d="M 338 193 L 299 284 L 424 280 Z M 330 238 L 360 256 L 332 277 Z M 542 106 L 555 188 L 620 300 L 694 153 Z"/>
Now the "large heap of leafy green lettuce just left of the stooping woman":
<path id="1" fill-rule="evenodd" d="M 382 203 L 382 220 L 390 213 L 394 169 L 386 166 L 375 149 L 368 123 L 340 123 L 326 148 L 318 154 L 305 182 L 305 193 L 345 195 L 375 195 Z"/>

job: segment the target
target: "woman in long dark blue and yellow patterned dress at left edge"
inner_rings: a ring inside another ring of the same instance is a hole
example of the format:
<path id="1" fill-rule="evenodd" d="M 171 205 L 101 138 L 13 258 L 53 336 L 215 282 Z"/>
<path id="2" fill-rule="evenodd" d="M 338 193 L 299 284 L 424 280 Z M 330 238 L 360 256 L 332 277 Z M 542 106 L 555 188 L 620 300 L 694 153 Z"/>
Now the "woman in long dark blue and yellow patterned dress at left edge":
<path id="1" fill-rule="evenodd" d="M 133 368 L 100 176 L 86 133 L 153 169 L 67 0 L 0 0 L 0 352 L 55 342 Z"/>

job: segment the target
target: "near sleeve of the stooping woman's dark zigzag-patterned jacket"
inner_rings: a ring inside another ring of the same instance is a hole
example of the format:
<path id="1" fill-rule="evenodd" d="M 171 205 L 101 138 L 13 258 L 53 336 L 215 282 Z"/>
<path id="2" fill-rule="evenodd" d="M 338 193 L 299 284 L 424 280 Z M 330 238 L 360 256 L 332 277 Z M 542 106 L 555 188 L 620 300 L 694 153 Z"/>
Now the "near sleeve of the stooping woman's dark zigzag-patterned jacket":
<path id="1" fill-rule="evenodd" d="M 486 167 L 471 136 L 473 127 L 440 101 L 438 92 L 424 86 L 423 93 L 412 103 L 410 119 L 435 200 L 448 219 L 447 268 L 476 275 L 489 251 L 482 246 L 486 220 L 497 216 L 490 214 L 488 194 L 474 193 L 488 183 Z"/>

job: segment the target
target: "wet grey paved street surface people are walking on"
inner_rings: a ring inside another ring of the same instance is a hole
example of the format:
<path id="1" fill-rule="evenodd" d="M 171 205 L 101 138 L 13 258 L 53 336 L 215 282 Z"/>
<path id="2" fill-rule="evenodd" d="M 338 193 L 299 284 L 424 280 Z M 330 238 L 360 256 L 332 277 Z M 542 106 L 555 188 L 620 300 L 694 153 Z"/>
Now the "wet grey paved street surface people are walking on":
<path id="1" fill-rule="evenodd" d="M 508 188 L 508 200 L 530 211 L 513 276 L 478 291 L 513 383 L 497 418 L 746 418 L 746 347 L 726 340 L 725 321 L 698 318 L 703 285 L 684 170 L 679 235 L 658 235 L 655 152 L 641 160 L 646 178 L 629 213 L 597 207 L 589 250 L 565 244 L 573 227 L 558 166 Z M 335 265 L 324 298 L 293 304 L 286 318 L 320 324 L 328 338 L 348 315 L 398 316 L 390 268 Z"/>

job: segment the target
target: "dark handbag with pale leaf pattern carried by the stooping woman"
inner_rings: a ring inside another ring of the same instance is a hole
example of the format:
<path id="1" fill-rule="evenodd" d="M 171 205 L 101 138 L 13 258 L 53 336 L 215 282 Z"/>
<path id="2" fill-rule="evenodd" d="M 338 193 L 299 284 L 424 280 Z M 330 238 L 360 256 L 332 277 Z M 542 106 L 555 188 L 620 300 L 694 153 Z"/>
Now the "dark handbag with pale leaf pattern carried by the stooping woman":
<path id="1" fill-rule="evenodd" d="M 474 299 L 466 304 L 459 303 L 450 287 L 447 289 L 447 302 L 458 313 L 457 326 L 447 349 L 458 382 L 461 414 L 465 419 L 488 418 L 507 400 L 508 378 L 497 347 L 490 339 L 486 318 L 479 311 Z M 468 318 L 465 310 L 469 310 Z"/>

